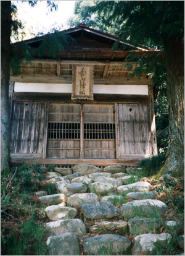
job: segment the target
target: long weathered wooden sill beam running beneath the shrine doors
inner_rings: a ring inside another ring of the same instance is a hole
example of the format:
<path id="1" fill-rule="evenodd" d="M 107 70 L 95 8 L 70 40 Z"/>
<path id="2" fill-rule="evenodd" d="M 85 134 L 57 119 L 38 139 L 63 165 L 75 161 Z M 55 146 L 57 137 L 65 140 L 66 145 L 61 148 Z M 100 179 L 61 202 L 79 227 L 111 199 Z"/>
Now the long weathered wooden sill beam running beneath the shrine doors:
<path id="1" fill-rule="evenodd" d="M 46 159 L 30 159 L 30 158 L 12 158 L 12 163 L 27 163 L 27 164 L 92 164 L 96 166 L 110 166 L 110 165 L 122 165 L 122 166 L 138 166 L 138 161 L 141 158 L 135 158 L 130 160 L 117 160 L 117 159 L 62 159 L 62 158 L 46 158 Z"/>

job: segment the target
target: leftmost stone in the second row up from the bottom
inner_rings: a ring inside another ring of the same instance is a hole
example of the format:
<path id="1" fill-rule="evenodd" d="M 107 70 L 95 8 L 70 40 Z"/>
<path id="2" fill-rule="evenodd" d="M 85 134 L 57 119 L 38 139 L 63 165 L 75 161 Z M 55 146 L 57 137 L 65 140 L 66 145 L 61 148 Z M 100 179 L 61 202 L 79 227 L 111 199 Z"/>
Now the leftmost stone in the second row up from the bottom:
<path id="1" fill-rule="evenodd" d="M 46 223 L 47 228 L 51 228 L 54 234 L 74 233 L 76 236 L 86 234 L 86 226 L 80 219 L 58 220 Z"/>

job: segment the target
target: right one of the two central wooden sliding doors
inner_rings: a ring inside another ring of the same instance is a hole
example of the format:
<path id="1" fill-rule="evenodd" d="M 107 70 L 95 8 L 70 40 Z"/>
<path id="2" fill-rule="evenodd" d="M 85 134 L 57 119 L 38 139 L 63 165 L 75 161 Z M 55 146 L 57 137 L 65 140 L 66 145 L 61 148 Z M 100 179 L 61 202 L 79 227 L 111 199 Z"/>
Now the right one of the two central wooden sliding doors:
<path id="1" fill-rule="evenodd" d="M 113 105 L 84 105 L 84 158 L 115 158 Z"/>

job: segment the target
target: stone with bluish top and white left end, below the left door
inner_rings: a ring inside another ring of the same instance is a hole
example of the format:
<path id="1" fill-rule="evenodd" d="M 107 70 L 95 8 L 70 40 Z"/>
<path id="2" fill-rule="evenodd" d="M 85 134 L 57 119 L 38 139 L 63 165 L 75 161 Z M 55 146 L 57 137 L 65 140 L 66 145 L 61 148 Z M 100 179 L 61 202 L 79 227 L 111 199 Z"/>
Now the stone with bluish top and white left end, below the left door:
<path id="1" fill-rule="evenodd" d="M 75 193 L 84 193 L 88 190 L 88 187 L 84 184 L 73 182 L 71 184 L 60 184 L 58 186 L 58 192 L 70 197 Z"/>

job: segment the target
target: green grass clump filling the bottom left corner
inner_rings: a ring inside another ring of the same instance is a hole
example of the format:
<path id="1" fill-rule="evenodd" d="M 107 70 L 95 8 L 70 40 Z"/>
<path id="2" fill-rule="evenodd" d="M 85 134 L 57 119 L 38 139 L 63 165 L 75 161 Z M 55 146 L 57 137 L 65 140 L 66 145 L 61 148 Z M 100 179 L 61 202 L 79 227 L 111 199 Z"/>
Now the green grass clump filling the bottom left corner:
<path id="1" fill-rule="evenodd" d="M 1 255 L 47 255 L 46 234 L 48 230 L 34 220 L 20 224 L 19 234 L 4 236 L 1 233 Z"/>

